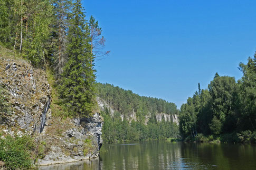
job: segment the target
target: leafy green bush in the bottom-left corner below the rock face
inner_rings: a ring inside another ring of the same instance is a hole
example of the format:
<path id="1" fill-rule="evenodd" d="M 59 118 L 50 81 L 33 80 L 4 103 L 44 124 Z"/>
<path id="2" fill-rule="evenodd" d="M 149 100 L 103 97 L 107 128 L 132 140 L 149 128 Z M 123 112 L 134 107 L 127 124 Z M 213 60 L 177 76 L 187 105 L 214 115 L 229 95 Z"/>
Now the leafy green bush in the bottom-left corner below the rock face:
<path id="1" fill-rule="evenodd" d="M 33 139 L 24 135 L 0 138 L 0 160 L 8 169 L 30 168 L 32 165 L 31 151 L 35 148 Z"/>

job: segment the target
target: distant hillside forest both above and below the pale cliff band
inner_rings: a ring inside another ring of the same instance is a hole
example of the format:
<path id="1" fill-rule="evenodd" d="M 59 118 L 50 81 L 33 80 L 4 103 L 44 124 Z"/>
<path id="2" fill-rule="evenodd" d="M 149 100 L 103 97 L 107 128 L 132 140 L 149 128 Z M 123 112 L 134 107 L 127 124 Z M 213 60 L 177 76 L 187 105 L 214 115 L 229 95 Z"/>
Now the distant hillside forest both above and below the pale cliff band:
<path id="1" fill-rule="evenodd" d="M 178 114 L 174 103 L 163 99 L 139 96 L 118 86 L 97 83 L 98 96 L 104 99 L 115 113 L 105 108 L 102 138 L 105 143 L 120 141 L 143 141 L 178 137 L 178 125 L 172 122 L 157 122 L 156 113 Z M 136 121 L 130 121 L 129 113 L 136 113 Z M 122 121 L 121 115 L 124 116 Z M 147 118 L 146 118 L 147 117 Z M 172 117 L 172 116 L 171 116 Z"/>

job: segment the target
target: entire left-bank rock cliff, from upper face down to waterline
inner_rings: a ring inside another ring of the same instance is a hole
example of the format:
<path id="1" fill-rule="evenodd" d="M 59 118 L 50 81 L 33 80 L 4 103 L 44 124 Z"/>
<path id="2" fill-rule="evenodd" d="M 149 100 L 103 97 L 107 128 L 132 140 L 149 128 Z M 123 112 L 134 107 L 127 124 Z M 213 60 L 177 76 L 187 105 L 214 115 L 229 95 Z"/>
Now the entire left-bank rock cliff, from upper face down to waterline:
<path id="1" fill-rule="evenodd" d="M 99 113 L 74 119 L 52 115 L 51 86 L 45 71 L 4 50 L 5 55 L 0 53 L 0 87 L 10 108 L 8 112 L 0 109 L 0 133 L 34 138 L 40 148 L 35 153 L 40 155 L 35 160 L 39 165 L 98 157 L 103 125 Z"/>

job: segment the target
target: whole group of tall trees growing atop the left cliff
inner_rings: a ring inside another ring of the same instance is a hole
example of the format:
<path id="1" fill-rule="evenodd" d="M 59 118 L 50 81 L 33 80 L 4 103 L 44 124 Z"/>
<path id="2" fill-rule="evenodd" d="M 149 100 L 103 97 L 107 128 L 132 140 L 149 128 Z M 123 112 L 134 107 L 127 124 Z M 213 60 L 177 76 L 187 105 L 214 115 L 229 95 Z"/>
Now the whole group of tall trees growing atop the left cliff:
<path id="1" fill-rule="evenodd" d="M 50 66 L 68 115 L 89 115 L 96 105 L 94 62 L 108 53 L 101 32 L 81 0 L 0 0 L 0 45 Z"/>

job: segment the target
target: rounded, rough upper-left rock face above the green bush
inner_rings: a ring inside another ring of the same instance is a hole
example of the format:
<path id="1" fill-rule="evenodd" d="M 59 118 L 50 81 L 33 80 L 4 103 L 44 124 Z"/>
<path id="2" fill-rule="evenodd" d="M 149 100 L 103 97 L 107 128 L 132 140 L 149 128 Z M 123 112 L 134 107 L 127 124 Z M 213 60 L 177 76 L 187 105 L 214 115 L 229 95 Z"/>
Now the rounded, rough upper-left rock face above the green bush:
<path id="1" fill-rule="evenodd" d="M 22 59 L 0 58 L 0 84 L 11 105 L 9 114 L 0 115 L 0 126 L 10 134 L 42 132 L 46 113 L 51 115 L 51 88 L 42 69 L 35 69 Z"/>

